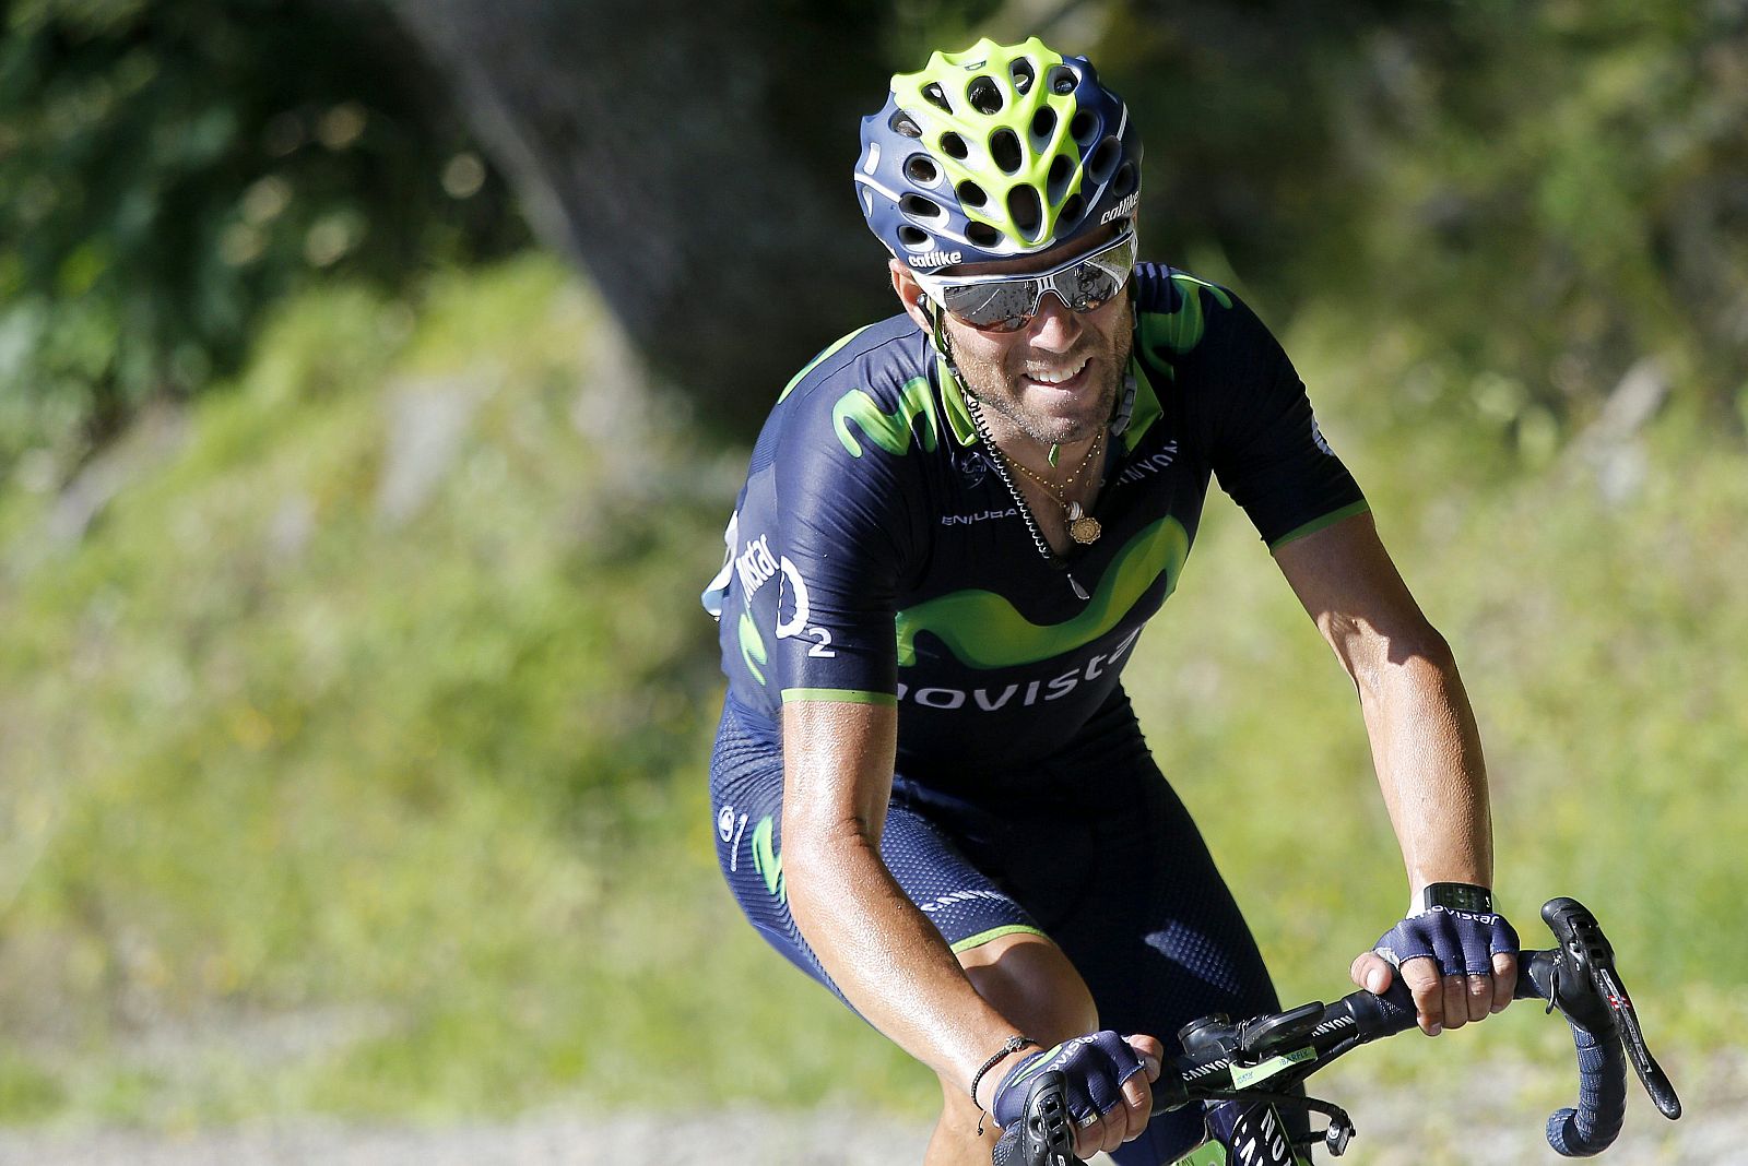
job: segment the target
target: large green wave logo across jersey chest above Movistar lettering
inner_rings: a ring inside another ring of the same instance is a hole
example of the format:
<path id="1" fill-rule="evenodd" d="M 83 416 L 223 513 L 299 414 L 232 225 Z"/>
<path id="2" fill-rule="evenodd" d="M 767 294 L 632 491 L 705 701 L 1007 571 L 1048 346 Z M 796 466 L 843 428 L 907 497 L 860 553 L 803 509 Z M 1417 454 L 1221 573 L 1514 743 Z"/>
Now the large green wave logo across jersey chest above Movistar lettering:
<path id="1" fill-rule="evenodd" d="M 1073 651 L 1117 627 L 1161 574 L 1169 597 L 1189 553 L 1190 536 L 1183 524 L 1161 518 L 1117 552 L 1087 606 L 1063 623 L 1033 623 L 995 592 L 939 595 L 898 613 L 898 667 L 916 663 L 921 632 L 937 637 L 972 669 L 1009 669 Z"/>

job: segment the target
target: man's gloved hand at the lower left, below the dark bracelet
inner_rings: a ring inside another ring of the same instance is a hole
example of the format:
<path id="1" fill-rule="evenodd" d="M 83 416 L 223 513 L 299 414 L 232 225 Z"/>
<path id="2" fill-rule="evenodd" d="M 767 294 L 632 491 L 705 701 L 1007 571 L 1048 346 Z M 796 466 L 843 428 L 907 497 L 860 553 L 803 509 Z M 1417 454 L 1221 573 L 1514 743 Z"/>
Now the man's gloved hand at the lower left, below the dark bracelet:
<path id="1" fill-rule="evenodd" d="M 1154 1110 L 1152 1082 L 1159 1080 L 1164 1046 L 1154 1037 L 1119 1037 L 1094 1032 L 1033 1053 L 1016 1065 L 989 1101 L 998 1126 L 1024 1119 L 1026 1094 L 1040 1073 L 1061 1070 L 1068 1079 L 1068 1114 L 1075 1122 L 1075 1157 L 1110 1152 L 1140 1136 Z"/>

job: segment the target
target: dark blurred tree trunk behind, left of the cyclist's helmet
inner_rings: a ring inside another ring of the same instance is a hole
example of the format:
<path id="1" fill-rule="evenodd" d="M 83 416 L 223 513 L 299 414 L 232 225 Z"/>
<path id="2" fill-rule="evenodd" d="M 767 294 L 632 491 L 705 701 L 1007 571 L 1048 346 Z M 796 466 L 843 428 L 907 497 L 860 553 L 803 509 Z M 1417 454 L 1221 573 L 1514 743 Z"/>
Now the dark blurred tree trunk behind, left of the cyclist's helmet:
<path id="1" fill-rule="evenodd" d="M 890 72 L 874 5 L 390 3 L 535 232 L 710 421 L 752 433 L 813 353 L 895 311 L 851 183 Z"/>

